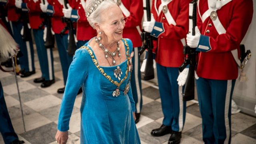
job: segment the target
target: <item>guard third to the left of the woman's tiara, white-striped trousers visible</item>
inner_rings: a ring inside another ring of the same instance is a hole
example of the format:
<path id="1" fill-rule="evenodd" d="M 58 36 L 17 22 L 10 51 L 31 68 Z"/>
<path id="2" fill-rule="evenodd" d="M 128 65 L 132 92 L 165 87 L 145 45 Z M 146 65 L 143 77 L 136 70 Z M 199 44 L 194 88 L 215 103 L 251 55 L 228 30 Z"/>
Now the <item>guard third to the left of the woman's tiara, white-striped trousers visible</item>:
<path id="1" fill-rule="evenodd" d="M 35 83 L 41 83 L 41 87 L 45 88 L 52 85 L 54 80 L 53 56 L 52 48 L 44 46 L 44 19 L 40 17 L 42 10 L 40 9 L 40 0 L 16 0 L 15 5 L 22 11 L 28 12 L 29 24 L 33 31 L 36 50 L 39 59 L 42 76 L 34 79 Z"/>

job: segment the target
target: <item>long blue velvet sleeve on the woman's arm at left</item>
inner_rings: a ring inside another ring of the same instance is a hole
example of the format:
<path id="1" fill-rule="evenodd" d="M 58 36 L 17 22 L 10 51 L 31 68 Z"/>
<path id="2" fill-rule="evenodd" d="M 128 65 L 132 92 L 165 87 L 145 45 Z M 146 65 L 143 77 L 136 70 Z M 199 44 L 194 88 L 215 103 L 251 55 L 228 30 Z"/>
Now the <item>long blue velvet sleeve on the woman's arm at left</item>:
<path id="1" fill-rule="evenodd" d="M 58 130 L 69 130 L 69 121 L 74 107 L 76 95 L 83 84 L 88 72 L 88 52 L 86 49 L 78 49 L 75 52 L 72 63 L 68 70 L 66 88 L 60 106 L 58 118 Z"/>

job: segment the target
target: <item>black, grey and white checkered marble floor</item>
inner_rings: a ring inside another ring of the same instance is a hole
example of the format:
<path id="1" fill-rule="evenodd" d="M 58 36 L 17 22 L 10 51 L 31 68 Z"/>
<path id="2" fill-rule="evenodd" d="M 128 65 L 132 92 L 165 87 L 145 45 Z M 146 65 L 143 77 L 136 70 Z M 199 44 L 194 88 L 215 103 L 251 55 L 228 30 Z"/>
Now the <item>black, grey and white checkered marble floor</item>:
<path id="1" fill-rule="evenodd" d="M 35 52 L 36 74 L 28 78 L 18 77 L 21 101 L 24 110 L 26 132 L 24 132 L 20 104 L 13 73 L 0 71 L 4 88 L 4 98 L 12 119 L 14 129 L 26 144 L 56 144 L 58 112 L 62 94 L 58 88 L 64 87 L 58 51 L 54 50 L 54 71 L 56 82 L 49 88 L 40 88 L 33 82 L 40 77 L 40 66 Z M 163 114 L 158 86 L 143 82 L 143 109 L 140 122 L 136 125 L 142 144 L 167 144 L 170 134 L 152 137 L 150 131 L 162 124 Z M 77 96 L 70 120 L 68 144 L 80 143 L 80 104 L 82 96 Z M 203 144 L 202 122 L 196 101 L 188 102 L 186 122 L 181 144 Z M 4 144 L 0 136 L 0 144 Z M 243 113 L 232 115 L 232 144 L 256 144 L 256 118 Z"/>

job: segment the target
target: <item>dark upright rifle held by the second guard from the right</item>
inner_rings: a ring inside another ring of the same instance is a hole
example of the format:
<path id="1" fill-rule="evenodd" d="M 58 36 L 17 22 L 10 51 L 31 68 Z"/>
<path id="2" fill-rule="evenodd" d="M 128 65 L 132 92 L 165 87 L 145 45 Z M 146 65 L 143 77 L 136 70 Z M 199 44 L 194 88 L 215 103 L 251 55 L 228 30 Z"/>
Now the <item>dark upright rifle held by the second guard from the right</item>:
<path id="1" fill-rule="evenodd" d="M 143 9 L 144 9 L 144 18 L 147 18 L 147 21 L 150 21 L 151 20 L 150 0 L 143 0 Z M 142 72 L 142 79 L 143 80 L 151 80 L 154 78 L 153 51 L 152 51 L 153 50 L 153 37 L 150 36 L 149 32 L 142 32 L 141 39 L 142 39 L 143 45 L 142 45 L 142 49 L 140 50 L 139 54 L 141 55 L 146 49 L 148 50 L 146 68 L 145 68 L 145 71 Z"/>

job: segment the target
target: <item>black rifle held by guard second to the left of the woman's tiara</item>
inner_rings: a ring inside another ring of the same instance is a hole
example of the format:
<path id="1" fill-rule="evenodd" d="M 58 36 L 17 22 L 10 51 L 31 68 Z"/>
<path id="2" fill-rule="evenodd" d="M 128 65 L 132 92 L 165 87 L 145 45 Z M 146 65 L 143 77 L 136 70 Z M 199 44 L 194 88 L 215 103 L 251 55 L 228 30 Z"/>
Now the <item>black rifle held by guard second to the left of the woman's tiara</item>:
<path id="1" fill-rule="evenodd" d="M 43 4 L 45 4 L 45 1 L 43 0 Z M 51 17 L 47 14 L 43 14 L 44 18 L 44 24 L 47 27 L 46 31 L 46 41 L 44 42 L 45 48 L 54 48 L 54 36 L 52 35 L 52 22 Z"/>

